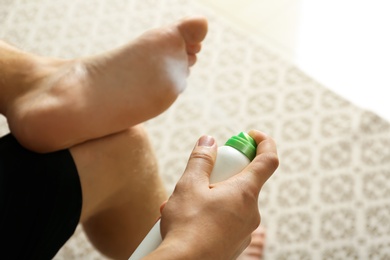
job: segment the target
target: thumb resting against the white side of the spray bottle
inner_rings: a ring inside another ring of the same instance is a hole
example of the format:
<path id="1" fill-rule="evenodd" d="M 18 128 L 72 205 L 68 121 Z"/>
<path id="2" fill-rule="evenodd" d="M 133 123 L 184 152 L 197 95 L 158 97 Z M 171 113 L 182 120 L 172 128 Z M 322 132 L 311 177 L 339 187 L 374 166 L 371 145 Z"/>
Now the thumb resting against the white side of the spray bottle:
<path id="1" fill-rule="evenodd" d="M 180 185 L 204 185 L 207 187 L 210 182 L 210 174 L 213 170 L 215 158 L 217 155 L 217 145 L 213 137 L 202 136 L 195 145 Z"/>

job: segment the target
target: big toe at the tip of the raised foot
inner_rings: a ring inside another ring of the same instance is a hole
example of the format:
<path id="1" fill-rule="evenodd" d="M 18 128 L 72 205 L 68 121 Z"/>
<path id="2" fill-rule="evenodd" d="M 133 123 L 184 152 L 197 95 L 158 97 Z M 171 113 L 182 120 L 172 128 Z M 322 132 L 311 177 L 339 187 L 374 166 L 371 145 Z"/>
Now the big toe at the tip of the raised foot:
<path id="1" fill-rule="evenodd" d="M 191 16 L 179 21 L 179 31 L 187 45 L 196 45 L 207 34 L 207 19 L 203 16 Z"/>

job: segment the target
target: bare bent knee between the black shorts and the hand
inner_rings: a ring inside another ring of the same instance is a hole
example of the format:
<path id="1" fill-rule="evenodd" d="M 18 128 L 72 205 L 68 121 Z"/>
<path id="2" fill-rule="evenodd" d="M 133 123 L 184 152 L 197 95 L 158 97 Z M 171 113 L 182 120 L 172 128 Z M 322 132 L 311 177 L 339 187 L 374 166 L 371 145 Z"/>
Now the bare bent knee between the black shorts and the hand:
<path id="1" fill-rule="evenodd" d="M 81 222 L 103 254 L 128 259 L 167 199 L 141 126 L 70 149 L 83 190 Z"/>

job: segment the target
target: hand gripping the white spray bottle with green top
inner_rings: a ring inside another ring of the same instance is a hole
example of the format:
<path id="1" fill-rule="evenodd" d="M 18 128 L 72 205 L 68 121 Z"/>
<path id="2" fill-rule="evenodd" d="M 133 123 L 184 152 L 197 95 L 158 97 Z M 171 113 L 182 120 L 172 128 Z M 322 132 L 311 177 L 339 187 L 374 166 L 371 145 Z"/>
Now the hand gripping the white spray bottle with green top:
<path id="1" fill-rule="evenodd" d="M 235 259 L 249 244 L 260 224 L 258 196 L 278 167 L 275 142 L 249 132 L 257 145 L 255 159 L 239 174 L 210 184 L 217 144 L 203 136 L 187 168 L 162 207 L 162 248 L 175 252 L 170 259 Z"/>

